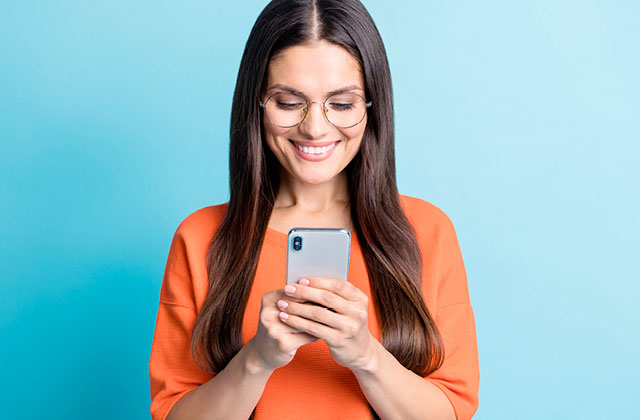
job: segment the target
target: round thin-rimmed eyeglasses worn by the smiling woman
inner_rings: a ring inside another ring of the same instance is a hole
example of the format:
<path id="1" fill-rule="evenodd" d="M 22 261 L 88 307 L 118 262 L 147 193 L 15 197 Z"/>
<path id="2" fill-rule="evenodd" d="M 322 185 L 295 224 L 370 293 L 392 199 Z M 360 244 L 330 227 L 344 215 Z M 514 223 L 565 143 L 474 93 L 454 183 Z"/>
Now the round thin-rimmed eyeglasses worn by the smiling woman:
<path id="1" fill-rule="evenodd" d="M 331 95 L 324 102 L 311 102 L 289 92 L 274 93 L 264 103 L 260 101 L 269 121 L 282 128 L 295 127 L 304 121 L 311 104 L 322 104 L 322 113 L 329 123 L 338 128 L 351 128 L 364 120 L 372 102 L 351 92 Z"/>

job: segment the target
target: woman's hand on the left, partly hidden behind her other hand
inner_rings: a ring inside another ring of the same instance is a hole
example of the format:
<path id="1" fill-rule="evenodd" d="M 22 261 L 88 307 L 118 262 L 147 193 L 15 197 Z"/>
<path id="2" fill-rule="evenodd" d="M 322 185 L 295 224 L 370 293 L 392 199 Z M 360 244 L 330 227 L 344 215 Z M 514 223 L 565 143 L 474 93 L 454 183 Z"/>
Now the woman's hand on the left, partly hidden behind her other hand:
<path id="1" fill-rule="evenodd" d="M 296 332 L 280 320 L 277 302 L 285 297 L 291 300 L 283 289 L 273 290 L 262 297 L 258 331 L 247 343 L 250 346 L 250 360 L 258 371 L 273 371 L 285 366 L 293 360 L 299 347 L 318 339 L 307 333 Z"/>

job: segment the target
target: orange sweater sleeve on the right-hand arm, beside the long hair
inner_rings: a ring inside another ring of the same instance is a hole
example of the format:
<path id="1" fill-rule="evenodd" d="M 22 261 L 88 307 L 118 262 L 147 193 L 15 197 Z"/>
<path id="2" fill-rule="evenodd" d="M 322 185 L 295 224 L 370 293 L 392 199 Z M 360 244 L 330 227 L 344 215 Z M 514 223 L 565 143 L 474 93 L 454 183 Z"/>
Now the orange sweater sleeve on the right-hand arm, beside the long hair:
<path id="1" fill-rule="evenodd" d="M 462 254 L 448 217 L 443 220 L 441 234 L 441 269 L 433 312 L 445 357 L 442 366 L 427 380 L 449 398 L 457 420 L 468 420 L 478 408 L 480 381 L 475 320 Z"/>

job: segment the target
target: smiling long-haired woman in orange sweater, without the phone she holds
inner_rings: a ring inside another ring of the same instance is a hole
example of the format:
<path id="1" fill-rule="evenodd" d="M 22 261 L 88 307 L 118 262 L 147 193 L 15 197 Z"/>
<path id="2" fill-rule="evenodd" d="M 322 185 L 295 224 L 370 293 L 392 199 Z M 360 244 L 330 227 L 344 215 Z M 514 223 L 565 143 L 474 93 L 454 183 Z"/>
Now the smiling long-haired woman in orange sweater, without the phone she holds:
<path id="1" fill-rule="evenodd" d="M 154 419 L 472 417 L 456 234 L 435 206 L 398 194 L 394 159 L 389 67 L 364 7 L 271 2 L 238 74 L 230 201 L 187 217 L 169 252 Z M 296 226 L 352 232 L 348 282 L 284 287 Z"/>

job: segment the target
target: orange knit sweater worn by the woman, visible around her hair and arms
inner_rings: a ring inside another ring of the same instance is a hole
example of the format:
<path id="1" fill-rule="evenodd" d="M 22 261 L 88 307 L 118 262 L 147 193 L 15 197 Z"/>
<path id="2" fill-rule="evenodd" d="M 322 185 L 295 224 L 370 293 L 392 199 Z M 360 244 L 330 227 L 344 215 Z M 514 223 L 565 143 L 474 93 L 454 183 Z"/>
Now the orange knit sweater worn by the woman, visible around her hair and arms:
<path id="1" fill-rule="evenodd" d="M 422 293 L 445 346 L 444 364 L 426 378 L 449 398 L 458 420 L 470 419 L 478 406 L 478 353 L 466 272 L 449 218 L 434 205 L 401 196 L 422 250 Z M 200 209 L 175 233 L 160 291 L 149 361 L 151 416 L 164 420 L 187 392 L 212 376 L 196 366 L 190 338 L 207 295 L 205 258 L 226 204 Z M 358 238 L 352 236 L 349 281 L 371 297 Z M 285 285 L 287 235 L 268 229 L 242 327 L 247 343 L 256 333 L 262 296 Z M 372 302 L 372 300 L 371 300 Z M 369 330 L 380 339 L 373 303 Z M 297 397 L 284 398 L 291 392 Z M 370 419 L 369 405 L 351 371 L 338 365 L 323 340 L 301 347 L 276 369 L 256 406 L 256 420 Z"/>

